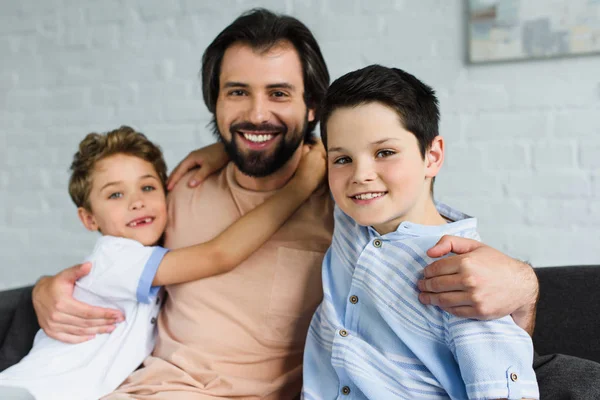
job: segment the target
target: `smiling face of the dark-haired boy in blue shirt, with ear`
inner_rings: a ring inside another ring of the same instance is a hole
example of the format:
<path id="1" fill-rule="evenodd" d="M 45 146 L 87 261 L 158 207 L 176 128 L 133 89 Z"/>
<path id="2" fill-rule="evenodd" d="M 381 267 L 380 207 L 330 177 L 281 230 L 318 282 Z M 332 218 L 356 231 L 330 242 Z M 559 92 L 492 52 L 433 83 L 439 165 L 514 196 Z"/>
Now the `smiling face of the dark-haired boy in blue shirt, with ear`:
<path id="1" fill-rule="evenodd" d="M 329 187 L 337 205 L 380 234 L 402 221 L 427 223 L 430 185 L 443 161 L 437 137 L 421 156 L 417 138 L 380 103 L 335 110 L 327 121 Z"/>

